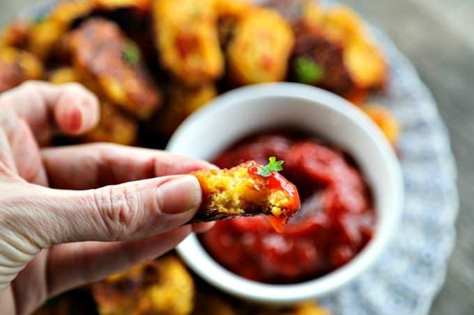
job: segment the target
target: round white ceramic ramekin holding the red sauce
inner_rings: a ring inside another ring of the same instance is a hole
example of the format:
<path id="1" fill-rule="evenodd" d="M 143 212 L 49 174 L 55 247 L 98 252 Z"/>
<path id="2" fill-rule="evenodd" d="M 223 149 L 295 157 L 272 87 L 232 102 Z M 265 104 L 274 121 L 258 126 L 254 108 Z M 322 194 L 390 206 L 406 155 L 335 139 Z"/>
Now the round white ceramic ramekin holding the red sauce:
<path id="1" fill-rule="evenodd" d="M 330 92 L 296 83 L 270 83 L 224 94 L 176 131 L 168 150 L 199 159 L 216 154 L 244 136 L 278 127 L 309 131 L 349 152 L 374 194 L 377 212 L 372 241 L 349 264 L 298 284 L 263 284 L 239 277 L 217 264 L 195 235 L 178 253 L 197 275 L 234 296 L 273 304 L 318 298 L 348 284 L 387 247 L 402 213 L 403 181 L 394 150 L 358 108 Z"/>

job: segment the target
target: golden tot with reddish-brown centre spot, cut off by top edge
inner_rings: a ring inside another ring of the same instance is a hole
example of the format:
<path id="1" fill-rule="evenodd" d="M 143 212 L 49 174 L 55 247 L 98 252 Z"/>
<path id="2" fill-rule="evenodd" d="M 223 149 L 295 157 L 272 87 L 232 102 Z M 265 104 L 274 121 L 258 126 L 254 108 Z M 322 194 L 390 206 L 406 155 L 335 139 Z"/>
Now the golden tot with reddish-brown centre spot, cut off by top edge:
<path id="1" fill-rule="evenodd" d="M 199 86 L 224 72 L 212 0 L 156 0 L 155 42 L 165 69 L 181 83 Z"/>

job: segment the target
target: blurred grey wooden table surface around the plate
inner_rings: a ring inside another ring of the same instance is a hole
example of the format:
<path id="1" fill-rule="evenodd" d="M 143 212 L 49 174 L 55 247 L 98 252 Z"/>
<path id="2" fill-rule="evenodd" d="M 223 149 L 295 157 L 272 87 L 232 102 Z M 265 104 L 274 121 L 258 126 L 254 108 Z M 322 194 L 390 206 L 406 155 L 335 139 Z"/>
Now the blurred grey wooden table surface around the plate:
<path id="1" fill-rule="evenodd" d="M 0 24 L 37 0 L 1 0 Z M 433 315 L 474 314 L 474 19 L 472 0 L 342 0 L 395 41 L 433 92 L 457 159 L 457 243 Z M 434 249 L 436 250 L 436 249 Z"/>

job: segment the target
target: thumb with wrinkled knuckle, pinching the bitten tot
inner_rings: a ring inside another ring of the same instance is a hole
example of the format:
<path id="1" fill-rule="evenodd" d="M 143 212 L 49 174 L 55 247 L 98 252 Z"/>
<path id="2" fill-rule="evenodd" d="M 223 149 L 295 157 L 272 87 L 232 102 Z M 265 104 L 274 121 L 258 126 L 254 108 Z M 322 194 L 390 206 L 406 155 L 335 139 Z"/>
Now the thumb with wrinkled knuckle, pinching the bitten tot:
<path id="1" fill-rule="evenodd" d="M 90 191 L 42 189 L 27 198 L 41 247 L 77 241 L 125 241 L 187 223 L 201 204 L 191 175 L 158 177 Z M 31 216 L 29 216 L 31 218 Z"/>

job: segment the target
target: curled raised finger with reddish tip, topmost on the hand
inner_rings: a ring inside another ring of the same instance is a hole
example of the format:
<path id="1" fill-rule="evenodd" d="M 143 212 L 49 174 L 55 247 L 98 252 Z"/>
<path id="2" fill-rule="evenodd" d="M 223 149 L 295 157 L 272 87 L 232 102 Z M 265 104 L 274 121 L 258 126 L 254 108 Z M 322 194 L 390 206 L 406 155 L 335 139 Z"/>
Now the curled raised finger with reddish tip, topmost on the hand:
<path id="1" fill-rule="evenodd" d="M 25 120 L 38 140 L 56 129 L 78 135 L 99 119 L 98 99 L 77 83 L 55 86 L 30 81 L 0 95 L 0 108 L 13 110 Z"/>

